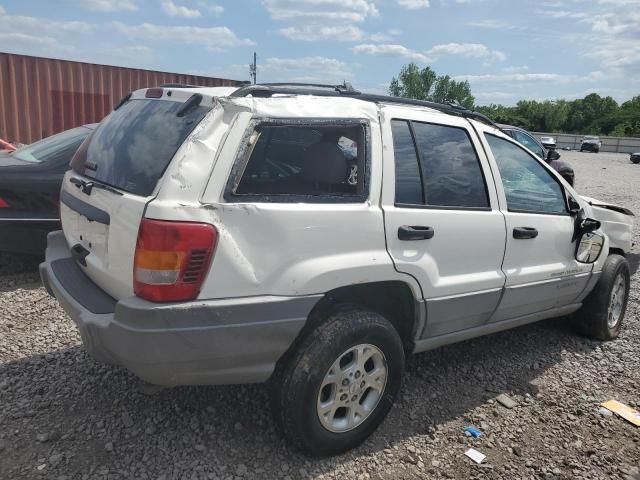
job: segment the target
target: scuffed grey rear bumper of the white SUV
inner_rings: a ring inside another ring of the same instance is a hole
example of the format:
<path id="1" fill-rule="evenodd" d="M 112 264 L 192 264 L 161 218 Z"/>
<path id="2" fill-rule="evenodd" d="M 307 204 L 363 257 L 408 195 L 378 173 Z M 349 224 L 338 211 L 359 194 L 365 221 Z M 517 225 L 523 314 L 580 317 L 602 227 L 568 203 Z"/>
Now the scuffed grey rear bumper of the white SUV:
<path id="1" fill-rule="evenodd" d="M 320 298 L 116 301 L 71 258 L 62 232 L 49 234 L 40 275 L 91 356 L 159 385 L 267 380 Z"/>

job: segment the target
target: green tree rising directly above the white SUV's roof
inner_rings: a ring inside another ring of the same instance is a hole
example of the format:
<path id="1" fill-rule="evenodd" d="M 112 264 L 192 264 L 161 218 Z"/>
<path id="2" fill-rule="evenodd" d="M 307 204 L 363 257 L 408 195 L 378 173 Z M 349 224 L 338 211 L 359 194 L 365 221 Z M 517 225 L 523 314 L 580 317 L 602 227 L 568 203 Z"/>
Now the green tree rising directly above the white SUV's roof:
<path id="1" fill-rule="evenodd" d="M 389 93 L 416 100 L 457 102 L 466 108 L 473 108 L 475 103 L 471 86 L 466 80 L 454 80 L 449 75 L 439 76 L 431 67 L 420 69 L 413 62 L 403 66 L 397 78 L 393 77 Z"/>

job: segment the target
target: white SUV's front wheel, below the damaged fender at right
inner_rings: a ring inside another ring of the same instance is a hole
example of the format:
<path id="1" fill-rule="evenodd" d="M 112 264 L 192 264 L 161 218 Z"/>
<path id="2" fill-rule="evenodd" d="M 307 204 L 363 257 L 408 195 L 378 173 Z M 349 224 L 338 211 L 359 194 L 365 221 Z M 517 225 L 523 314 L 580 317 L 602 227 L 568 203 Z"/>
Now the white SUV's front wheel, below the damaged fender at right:
<path id="1" fill-rule="evenodd" d="M 621 255 L 609 255 L 600 280 L 575 314 L 583 335 L 596 340 L 618 338 L 629 300 L 629 264 Z"/>

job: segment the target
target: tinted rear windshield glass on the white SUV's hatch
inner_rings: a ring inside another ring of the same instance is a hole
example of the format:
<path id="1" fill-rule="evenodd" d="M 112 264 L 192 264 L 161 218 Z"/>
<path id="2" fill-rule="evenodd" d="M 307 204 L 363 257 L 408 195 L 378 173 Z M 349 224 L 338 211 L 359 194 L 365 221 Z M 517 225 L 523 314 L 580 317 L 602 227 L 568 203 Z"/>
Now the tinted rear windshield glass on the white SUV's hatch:
<path id="1" fill-rule="evenodd" d="M 211 107 L 197 106 L 176 116 L 181 102 L 131 100 L 98 127 L 84 174 L 136 195 L 148 196 L 185 138 Z"/>

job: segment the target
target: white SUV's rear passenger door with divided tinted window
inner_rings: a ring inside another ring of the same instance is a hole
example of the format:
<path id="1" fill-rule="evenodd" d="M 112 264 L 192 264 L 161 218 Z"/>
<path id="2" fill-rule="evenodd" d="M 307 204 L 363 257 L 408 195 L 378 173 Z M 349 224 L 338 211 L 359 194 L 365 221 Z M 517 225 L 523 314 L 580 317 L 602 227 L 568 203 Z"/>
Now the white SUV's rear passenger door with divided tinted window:
<path id="1" fill-rule="evenodd" d="M 383 209 L 398 271 L 418 280 L 422 336 L 488 321 L 505 277 L 505 222 L 487 160 L 469 122 L 386 107 Z"/>

